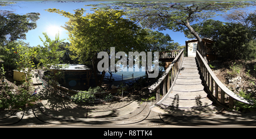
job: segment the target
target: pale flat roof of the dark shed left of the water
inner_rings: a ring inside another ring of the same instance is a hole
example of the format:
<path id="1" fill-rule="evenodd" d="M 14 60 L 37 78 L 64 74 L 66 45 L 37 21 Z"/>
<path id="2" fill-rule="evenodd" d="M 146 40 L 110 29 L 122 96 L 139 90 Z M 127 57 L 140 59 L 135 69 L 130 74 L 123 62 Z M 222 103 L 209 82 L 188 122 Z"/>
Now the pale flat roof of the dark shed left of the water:
<path id="1" fill-rule="evenodd" d="M 67 66 L 65 66 L 67 65 Z M 88 68 L 88 66 L 82 65 L 82 64 L 57 64 L 57 66 L 64 66 L 64 68 L 61 68 L 60 70 L 73 70 L 73 71 L 82 71 L 82 70 L 91 70 Z M 57 69 L 51 66 L 51 69 Z"/>

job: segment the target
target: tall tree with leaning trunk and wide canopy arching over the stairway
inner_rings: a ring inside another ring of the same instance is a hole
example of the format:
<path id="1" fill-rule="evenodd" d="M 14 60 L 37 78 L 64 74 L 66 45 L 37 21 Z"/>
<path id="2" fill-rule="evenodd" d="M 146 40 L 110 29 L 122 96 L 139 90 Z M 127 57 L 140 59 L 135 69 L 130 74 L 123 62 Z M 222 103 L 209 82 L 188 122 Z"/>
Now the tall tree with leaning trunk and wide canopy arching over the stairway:
<path id="1" fill-rule="evenodd" d="M 204 46 L 201 37 L 191 27 L 193 22 L 211 18 L 216 12 L 250 5 L 254 5 L 254 2 L 114 2 L 106 3 L 103 8 L 129 11 L 129 18 L 137 19 L 143 27 L 173 31 L 183 31 L 187 28 L 199 41 L 199 45 Z M 207 61 L 204 47 L 201 48 L 202 55 Z"/>

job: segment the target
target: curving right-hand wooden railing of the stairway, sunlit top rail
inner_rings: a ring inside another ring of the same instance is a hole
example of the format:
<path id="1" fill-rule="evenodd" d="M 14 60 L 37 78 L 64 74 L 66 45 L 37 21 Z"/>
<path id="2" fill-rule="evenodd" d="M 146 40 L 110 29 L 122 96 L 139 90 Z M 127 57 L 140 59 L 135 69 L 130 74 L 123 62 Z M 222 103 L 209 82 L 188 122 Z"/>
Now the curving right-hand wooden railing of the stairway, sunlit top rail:
<path id="1" fill-rule="evenodd" d="M 196 59 L 200 67 L 200 74 L 203 77 L 203 82 L 207 86 L 207 90 L 210 92 L 210 95 L 220 102 L 221 104 L 225 104 L 225 94 L 228 95 L 229 108 L 234 107 L 234 99 L 246 103 L 246 104 L 254 104 L 253 100 L 245 99 L 233 91 L 229 90 L 221 81 L 216 77 L 213 71 L 208 66 L 207 62 L 205 62 L 204 58 L 201 56 L 199 51 L 196 51 Z M 218 97 L 218 93 L 220 92 L 220 97 Z M 214 95 L 213 95 L 214 94 Z"/>

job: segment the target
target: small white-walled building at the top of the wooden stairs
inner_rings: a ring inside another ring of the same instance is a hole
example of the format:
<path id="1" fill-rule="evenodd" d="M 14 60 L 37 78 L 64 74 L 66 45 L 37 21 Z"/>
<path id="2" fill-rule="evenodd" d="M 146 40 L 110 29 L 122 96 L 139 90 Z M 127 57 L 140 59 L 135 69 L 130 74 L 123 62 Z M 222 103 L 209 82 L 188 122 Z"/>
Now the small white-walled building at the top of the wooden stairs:
<path id="1" fill-rule="evenodd" d="M 204 48 L 205 48 L 205 54 L 207 55 L 207 60 L 213 61 L 217 59 L 217 53 L 216 50 L 213 49 L 214 40 L 209 38 L 203 38 Z M 185 41 L 186 44 L 186 50 L 188 53 L 188 57 L 196 57 L 196 50 L 201 50 L 198 44 L 197 39 L 193 40 L 187 40 Z"/>

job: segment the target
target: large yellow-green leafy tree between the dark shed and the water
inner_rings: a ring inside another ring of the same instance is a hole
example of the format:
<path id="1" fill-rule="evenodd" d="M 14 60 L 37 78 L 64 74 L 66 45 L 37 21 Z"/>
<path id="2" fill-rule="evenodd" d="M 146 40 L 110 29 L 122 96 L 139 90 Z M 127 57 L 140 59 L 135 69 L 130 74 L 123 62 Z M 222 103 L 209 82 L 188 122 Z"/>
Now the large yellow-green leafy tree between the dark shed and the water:
<path id="1" fill-rule="evenodd" d="M 96 10 L 93 14 L 84 16 L 84 9 L 75 10 L 75 14 L 48 9 L 67 18 L 65 29 L 69 31 L 69 49 L 77 54 L 82 64 L 92 65 L 97 86 L 101 86 L 105 71 L 98 77 L 97 58 L 99 52 L 107 52 L 110 56 L 110 47 L 115 52 L 129 52 L 146 49 L 144 37 L 147 32 L 142 30 L 133 20 L 124 18 L 123 11 Z"/>

